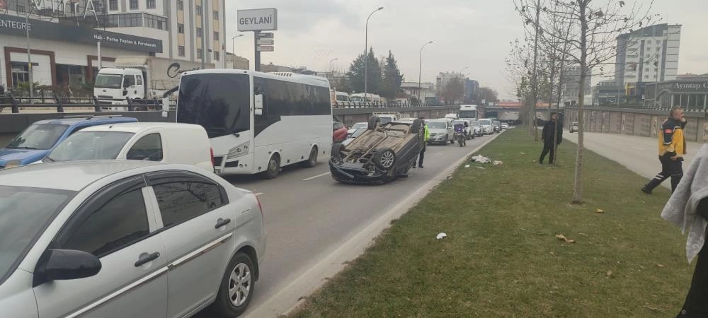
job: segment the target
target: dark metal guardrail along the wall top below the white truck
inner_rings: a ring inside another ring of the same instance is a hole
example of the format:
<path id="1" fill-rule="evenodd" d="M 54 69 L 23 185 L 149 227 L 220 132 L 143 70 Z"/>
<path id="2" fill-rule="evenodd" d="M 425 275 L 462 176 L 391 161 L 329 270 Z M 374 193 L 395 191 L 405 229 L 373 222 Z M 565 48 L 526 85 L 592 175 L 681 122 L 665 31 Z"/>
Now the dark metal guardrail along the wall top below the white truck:
<path id="1" fill-rule="evenodd" d="M 105 104 L 103 101 L 125 101 L 127 102 L 127 110 L 129 112 L 135 110 L 148 110 L 152 108 L 154 110 L 161 109 L 161 100 L 130 100 L 130 99 L 108 99 L 101 98 L 98 100 L 96 96 L 93 98 L 59 98 L 57 95 L 53 96 L 53 103 L 46 102 L 36 102 L 39 98 L 20 98 L 15 97 L 12 93 L 6 93 L 5 95 L 0 95 L 0 112 L 4 108 L 9 107 L 13 114 L 18 114 L 21 108 L 56 108 L 57 112 L 64 112 L 64 107 L 74 107 L 74 108 L 93 108 L 93 112 L 102 112 L 103 107 L 122 107 L 122 105 Z M 23 102 L 23 100 L 25 102 Z M 78 101 L 78 102 L 77 102 Z"/>

